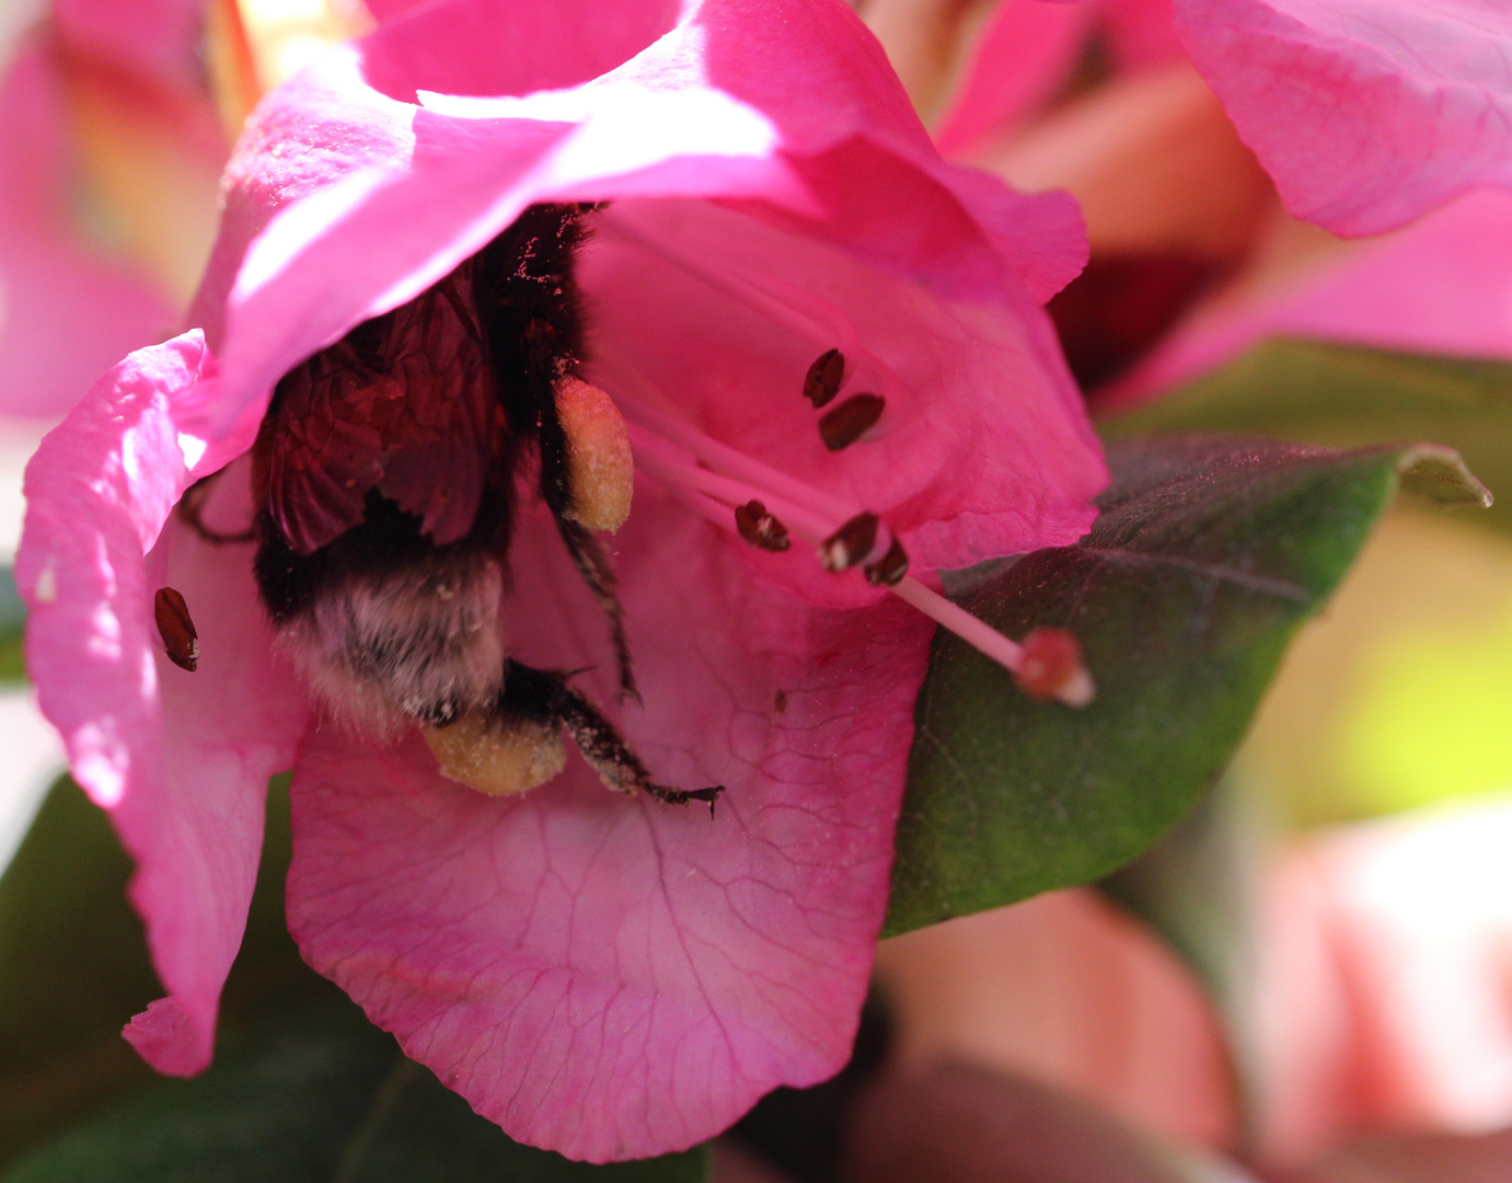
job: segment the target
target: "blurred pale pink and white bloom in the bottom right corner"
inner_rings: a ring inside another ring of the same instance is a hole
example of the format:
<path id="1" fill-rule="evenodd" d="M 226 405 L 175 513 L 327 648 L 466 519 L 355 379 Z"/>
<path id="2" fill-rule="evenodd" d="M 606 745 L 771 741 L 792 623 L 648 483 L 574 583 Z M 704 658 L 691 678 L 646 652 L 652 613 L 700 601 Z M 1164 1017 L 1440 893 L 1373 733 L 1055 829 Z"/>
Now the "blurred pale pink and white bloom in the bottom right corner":
<path id="1" fill-rule="evenodd" d="M 1266 897 L 1259 1132 L 1305 1160 L 1361 1129 L 1512 1126 L 1512 802 L 1309 838 Z"/>

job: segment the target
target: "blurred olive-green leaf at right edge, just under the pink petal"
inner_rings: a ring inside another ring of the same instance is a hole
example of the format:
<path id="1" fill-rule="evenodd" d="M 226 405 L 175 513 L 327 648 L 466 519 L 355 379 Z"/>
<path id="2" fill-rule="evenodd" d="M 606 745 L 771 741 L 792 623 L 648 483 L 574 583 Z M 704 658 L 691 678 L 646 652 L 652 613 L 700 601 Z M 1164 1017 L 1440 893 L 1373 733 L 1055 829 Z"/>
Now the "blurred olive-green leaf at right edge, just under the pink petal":
<path id="1" fill-rule="evenodd" d="M 1438 440 L 1512 493 L 1512 363 L 1323 340 L 1256 345 L 1226 368 L 1099 424 L 1108 439 L 1241 431 L 1331 448 Z M 1479 517 L 1512 531 L 1512 496 Z"/>

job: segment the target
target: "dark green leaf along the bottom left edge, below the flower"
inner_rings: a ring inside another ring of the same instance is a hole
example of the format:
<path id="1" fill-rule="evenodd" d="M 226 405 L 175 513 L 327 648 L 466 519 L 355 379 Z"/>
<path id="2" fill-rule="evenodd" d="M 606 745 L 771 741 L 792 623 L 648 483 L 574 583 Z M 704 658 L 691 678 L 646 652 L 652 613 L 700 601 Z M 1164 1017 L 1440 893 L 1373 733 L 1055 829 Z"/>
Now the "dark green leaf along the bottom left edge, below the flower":
<path id="1" fill-rule="evenodd" d="M 511 1142 L 355 1008 L 76 1127 L 5 1183 L 702 1183 L 703 1148 L 590 1166 Z"/>

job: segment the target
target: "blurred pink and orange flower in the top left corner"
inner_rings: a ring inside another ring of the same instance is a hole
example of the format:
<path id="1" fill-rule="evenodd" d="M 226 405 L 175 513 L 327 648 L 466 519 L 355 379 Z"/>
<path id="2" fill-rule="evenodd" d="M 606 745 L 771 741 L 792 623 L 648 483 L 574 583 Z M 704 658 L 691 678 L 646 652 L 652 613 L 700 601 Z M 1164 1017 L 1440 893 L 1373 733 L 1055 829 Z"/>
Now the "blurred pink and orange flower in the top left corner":
<path id="1" fill-rule="evenodd" d="M 200 8 L 60 0 L 0 79 L 8 415 L 62 415 L 122 352 L 177 327 L 225 159 L 197 74 Z M 145 192 L 124 192 L 133 169 Z M 183 266 L 163 250 L 168 222 Z"/>

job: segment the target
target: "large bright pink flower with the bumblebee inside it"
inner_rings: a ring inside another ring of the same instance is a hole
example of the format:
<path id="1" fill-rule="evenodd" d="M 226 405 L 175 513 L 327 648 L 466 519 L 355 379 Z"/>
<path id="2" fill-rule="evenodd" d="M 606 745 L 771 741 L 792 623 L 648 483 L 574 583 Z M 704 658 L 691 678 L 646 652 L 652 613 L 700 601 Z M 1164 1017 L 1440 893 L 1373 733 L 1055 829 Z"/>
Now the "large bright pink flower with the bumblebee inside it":
<path id="1" fill-rule="evenodd" d="M 266 779 L 293 767 L 304 956 L 510 1135 L 647 1156 L 832 1074 L 931 623 L 812 548 L 744 543 L 732 505 L 809 537 L 871 510 L 925 573 L 1080 537 L 1104 470 L 1037 307 L 1084 257 L 1070 203 L 942 163 L 856 18 L 813 0 L 428 6 L 269 95 L 225 192 L 203 334 L 122 362 L 27 474 L 30 669 L 138 861 L 168 991 L 127 1036 L 162 1071 L 209 1062 Z M 485 797 L 413 731 L 333 726 L 275 655 L 249 548 L 172 511 L 230 466 L 204 520 L 245 526 L 274 383 L 541 201 L 612 203 L 578 274 L 587 377 L 635 445 L 614 543 L 644 705 L 614 706 L 603 614 L 525 496 L 510 655 L 588 670 L 658 781 L 726 787 L 712 820 L 576 758 Z M 886 399 L 836 452 L 800 393 L 832 346 L 842 393 Z M 153 635 L 163 585 L 194 675 Z"/>

